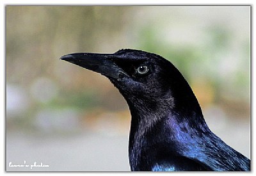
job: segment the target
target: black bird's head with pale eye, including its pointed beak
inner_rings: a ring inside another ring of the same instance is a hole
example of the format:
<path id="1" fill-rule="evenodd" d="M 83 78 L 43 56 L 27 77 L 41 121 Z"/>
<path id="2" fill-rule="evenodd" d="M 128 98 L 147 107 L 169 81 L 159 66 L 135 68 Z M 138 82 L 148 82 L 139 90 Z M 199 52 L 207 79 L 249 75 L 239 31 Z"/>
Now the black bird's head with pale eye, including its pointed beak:
<path id="1" fill-rule="evenodd" d="M 122 49 L 113 54 L 67 54 L 61 60 L 108 77 L 130 108 L 136 104 L 153 109 L 160 105 L 188 109 L 188 104 L 198 103 L 179 70 L 157 54 Z"/>

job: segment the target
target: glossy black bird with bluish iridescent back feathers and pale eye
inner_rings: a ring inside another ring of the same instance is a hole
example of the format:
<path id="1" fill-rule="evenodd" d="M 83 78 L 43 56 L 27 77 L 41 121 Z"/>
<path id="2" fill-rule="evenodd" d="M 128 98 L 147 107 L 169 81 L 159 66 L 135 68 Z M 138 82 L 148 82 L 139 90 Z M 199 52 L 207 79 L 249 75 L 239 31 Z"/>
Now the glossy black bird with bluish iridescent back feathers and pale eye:
<path id="1" fill-rule="evenodd" d="M 132 171 L 250 171 L 250 159 L 209 129 L 188 82 L 170 61 L 133 49 L 61 60 L 108 77 L 124 96 L 131 111 Z"/>

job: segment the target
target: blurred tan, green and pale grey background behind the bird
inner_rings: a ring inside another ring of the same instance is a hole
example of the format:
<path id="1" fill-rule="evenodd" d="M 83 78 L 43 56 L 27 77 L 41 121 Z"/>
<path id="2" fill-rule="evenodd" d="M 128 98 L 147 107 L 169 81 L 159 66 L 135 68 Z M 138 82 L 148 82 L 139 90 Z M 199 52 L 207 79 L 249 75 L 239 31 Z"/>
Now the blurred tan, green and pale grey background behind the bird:
<path id="1" fill-rule="evenodd" d="M 6 6 L 6 170 L 129 171 L 124 98 L 59 60 L 122 48 L 170 60 L 210 129 L 250 158 L 250 6 Z"/>

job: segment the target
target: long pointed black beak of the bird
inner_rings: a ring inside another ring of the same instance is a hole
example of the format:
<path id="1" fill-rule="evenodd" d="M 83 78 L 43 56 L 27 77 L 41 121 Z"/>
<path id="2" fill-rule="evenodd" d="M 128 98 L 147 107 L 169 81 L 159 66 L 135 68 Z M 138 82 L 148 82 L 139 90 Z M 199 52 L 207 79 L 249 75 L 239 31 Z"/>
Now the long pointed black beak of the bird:
<path id="1" fill-rule="evenodd" d="M 98 72 L 106 77 L 119 80 L 127 74 L 118 67 L 113 60 L 113 54 L 96 54 L 96 53 L 73 53 L 62 56 L 60 60 L 65 60 L 80 67 L 87 68 L 94 72 Z M 118 58 L 116 58 L 118 59 Z"/>

